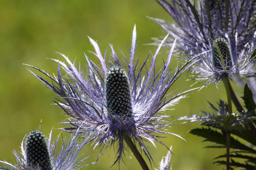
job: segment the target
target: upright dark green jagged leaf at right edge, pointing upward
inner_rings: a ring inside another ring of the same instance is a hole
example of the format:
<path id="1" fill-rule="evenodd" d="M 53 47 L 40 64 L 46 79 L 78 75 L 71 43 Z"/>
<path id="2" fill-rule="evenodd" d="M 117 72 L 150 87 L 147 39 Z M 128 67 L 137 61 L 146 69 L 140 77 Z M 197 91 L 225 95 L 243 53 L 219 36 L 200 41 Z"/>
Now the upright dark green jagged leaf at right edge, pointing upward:
<path id="1" fill-rule="evenodd" d="M 244 99 L 245 107 L 247 108 L 247 111 L 253 111 L 255 112 L 256 105 L 253 101 L 253 93 L 250 91 L 250 88 L 247 84 L 244 86 L 244 96 L 242 97 Z"/>

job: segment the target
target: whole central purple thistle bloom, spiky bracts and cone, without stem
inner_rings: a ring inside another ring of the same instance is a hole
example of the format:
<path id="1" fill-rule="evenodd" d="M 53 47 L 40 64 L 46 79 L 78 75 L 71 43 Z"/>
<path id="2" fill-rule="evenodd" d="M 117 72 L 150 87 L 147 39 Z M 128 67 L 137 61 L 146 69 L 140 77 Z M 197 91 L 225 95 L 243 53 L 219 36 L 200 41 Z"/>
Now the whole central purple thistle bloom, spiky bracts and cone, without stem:
<path id="1" fill-rule="evenodd" d="M 173 45 L 163 67 L 157 71 L 157 55 L 166 36 L 158 45 L 156 52 L 149 53 L 140 65 L 139 58 L 135 56 L 136 36 L 134 26 L 129 58 L 123 54 L 124 63 L 119 60 L 112 45 L 110 45 L 111 56 L 106 61 L 108 58 L 106 54 L 103 57 L 97 42 L 89 37 L 96 51 L 93 54 L 101 65 L 95 64 L 85 55 L 88 62 L 85 76 L 82 76 L 80 69 L 77 70 L 75 64 L 63 54 L 61 55 L 66 59 L 67 65 L 53 59 L 59 63 L 58 77 L 52 77 L 39 68 L 31 66 L 52 80 L 48 82 L 32 72 L 63 99 L 56 103 L 70 116 L 66 123 L 71 127 L 66 130 L 76 129 L 83 124 L 81 130 L 84 135 L 91 135 L 90 142 L 94 143 L 95 147 L 100 145 L 103 149 L 116 144 L 117 159 L 114 164 L 123 160 L 126 149 L 124 133 L 134 143 L 139 144 L 149 160 L 152 158 L 145 142 L 149 141 L 152 144 L 154 141 L 160 142 L 159 133 L 174 134 L 165 130 L 165 127 L 172 124 L 164 119 L 169 116 L 163 111 L 175 105 L 191 90 L 177 95 L 175 91 L 169 90 L 177 78 L 196 62 L 194 59 L 189 59 L 172 71 L 170 62 L 175 46 Z M 67 73 L 67 77 L 61 75 L 61 67 Z"/>

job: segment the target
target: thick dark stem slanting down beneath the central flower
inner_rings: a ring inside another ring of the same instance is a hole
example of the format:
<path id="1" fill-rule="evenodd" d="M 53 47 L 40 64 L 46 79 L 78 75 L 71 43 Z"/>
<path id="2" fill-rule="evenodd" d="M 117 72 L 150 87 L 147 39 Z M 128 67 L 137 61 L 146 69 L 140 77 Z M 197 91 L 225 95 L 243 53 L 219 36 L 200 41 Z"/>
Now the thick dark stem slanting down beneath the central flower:
<path id="1" fill-rule="evenodd" d="M 141 156 L 139 150 L 137 150 L 137 147 L 135 146 L 134 142 L 132 142 L 131 137 L 125 132 L 123 135 L 125 142 L 127 143 L 128 147 L 130 147 L 132 153 L 140 163 L 140 166 L 143 170 L 149 170 L 148 165 L 146 164 L 145 160 Z"/>

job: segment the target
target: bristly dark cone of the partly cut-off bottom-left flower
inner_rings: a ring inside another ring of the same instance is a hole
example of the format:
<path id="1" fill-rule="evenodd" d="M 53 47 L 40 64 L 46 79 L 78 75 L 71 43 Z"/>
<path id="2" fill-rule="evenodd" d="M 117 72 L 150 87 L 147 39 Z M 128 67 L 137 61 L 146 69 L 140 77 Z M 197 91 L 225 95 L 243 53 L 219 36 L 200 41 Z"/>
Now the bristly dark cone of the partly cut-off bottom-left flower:
<path id="1" fill-rule="evenodd" d="M 39 130 L 33 130 L 26 139 L 26 164 L 28 167 L 41 170 L 52 170 L 52 162 L 49 156 L 48 144 L 44 134 Z"/>

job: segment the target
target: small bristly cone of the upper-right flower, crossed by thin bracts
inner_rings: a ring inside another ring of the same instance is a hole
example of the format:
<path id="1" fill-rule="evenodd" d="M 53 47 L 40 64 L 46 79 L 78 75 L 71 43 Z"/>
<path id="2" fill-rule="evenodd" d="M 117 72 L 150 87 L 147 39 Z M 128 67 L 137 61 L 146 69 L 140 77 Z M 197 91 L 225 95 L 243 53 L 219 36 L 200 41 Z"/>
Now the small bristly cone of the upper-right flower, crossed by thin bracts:
<path id="1" fill-rule="evenodd" d="M 212 49 L 213 66 L 216 69 L 229 71 L 230 68 L 232 67 L 231 51 L 230 51 L 229 45 L 224 38 L 217 38 L 215 40 L 215 43 L 217 44 L 221 52 L 221 55 L 219 54 L 217 47 L 213 45 L 213 49 Z"/>

